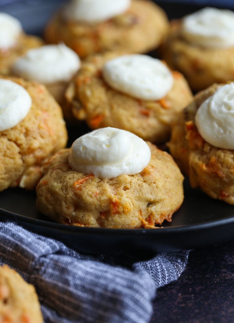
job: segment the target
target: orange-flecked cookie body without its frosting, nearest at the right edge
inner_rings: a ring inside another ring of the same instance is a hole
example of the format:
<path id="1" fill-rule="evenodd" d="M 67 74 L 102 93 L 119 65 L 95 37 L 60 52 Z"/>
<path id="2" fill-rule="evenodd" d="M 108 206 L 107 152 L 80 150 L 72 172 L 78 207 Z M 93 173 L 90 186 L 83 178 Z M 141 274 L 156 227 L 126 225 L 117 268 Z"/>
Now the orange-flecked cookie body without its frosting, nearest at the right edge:
<path id="1" fill-rule="evenodd" d="M 168 146 L 193 188 L 200 187 L 210 197 L 234 204 L 234 152 L 210 145 L 194 122 L 199 106 L 222 85 L 214 84 L 197 93 L 173 126 Z"/>

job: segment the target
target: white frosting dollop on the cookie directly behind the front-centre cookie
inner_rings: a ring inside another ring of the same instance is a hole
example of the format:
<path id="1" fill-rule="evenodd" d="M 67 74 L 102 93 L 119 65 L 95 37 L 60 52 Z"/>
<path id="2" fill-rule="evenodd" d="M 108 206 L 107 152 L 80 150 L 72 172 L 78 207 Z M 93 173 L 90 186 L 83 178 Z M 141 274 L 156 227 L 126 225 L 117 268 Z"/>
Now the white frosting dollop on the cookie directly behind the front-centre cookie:
<path id="1" fill-rule="evenodd" d="M 113 89 L 143 100 L 162 99 L 174 84 L 172 73 L 165 64 L 140 54 L 107 61 L 102 76 Z"/>

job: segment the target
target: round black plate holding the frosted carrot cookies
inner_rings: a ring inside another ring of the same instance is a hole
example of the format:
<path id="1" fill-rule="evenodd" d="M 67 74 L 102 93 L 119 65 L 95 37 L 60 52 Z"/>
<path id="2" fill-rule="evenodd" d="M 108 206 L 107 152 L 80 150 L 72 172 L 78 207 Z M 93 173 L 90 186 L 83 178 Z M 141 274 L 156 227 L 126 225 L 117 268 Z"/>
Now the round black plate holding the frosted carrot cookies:
<path id="1" fill-rule="evenodd" d="M 40 34 L 49 16 L 61 2 L 16 1 L 14 5 L 0 8 L 19 18 L 27 32 Z M 162 5 L 170 18 L 178 18 L 200 8 L 195 5 L 157 3 Z M 87 129 L 82 129 L 83 131 Z M 73 141 L 74 129 L 69 129 L 69 134 L 70 143 Z M 57 224 L 37 211 L 35 192 L 20 188 L 0 193 L 0 216 L 4 220 L 13 219 L 34 232 L 60 239 L 73 248 L 89 253 L 120 253 L 138 249 L 169 252 L 234 238 L 234 206 L 191 189 L 187 178 L 184 190 L 184 203 L 173 215 L 172 222 L 164 223 L 164 228 L 155 230 L 79 228 Z"/>

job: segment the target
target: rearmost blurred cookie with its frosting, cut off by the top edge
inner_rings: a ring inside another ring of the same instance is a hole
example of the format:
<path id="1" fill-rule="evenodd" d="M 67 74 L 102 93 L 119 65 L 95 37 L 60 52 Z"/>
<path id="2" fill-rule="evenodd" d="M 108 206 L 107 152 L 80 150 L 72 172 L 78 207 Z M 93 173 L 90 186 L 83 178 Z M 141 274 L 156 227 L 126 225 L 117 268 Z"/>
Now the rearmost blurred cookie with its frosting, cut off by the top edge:
<path id="1" fill-rule="evenodd" d="M 80 58 L 106 50 L 145 53 L 168 32 L 165 12 L 153 1 L 71 0 L 45 28 L 47 43 L 64 42 Z"/>

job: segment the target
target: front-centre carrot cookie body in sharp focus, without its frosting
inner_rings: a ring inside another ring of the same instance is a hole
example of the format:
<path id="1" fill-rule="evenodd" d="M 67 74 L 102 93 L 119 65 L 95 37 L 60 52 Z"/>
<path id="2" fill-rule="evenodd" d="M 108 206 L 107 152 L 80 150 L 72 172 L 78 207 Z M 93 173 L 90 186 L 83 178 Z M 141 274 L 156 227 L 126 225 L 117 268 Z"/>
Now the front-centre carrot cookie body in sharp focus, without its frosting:
<path id="1" fill-rule="evenodd" d="M 69 149 L 50 159 L 37 185 L 37 208 L 70 225 L 106 228 L 154 228 L 183 202 L 183 176 L 173 158 L 148 142 L 151 160 L 135 175 L 100 179 L 75 172 Z"/>

